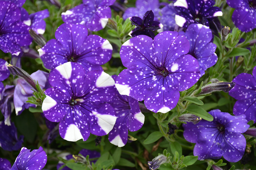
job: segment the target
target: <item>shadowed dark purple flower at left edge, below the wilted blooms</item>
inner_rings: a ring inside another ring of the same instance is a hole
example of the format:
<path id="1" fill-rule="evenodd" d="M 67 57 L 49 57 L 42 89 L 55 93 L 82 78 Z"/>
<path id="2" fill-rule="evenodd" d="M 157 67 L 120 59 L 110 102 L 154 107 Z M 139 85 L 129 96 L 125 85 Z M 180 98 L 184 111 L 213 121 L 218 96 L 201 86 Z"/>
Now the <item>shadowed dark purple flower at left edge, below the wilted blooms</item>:
<path id="1" fill-rule="evenodd" d="M 11 122 L 11 126 L 8 126 L 3 121 L 0 122 L 0 146 L 5 151 L 20 150 L 23 138 L 23 136 L 20 136 L 18 139 L 14 123 Z"/>

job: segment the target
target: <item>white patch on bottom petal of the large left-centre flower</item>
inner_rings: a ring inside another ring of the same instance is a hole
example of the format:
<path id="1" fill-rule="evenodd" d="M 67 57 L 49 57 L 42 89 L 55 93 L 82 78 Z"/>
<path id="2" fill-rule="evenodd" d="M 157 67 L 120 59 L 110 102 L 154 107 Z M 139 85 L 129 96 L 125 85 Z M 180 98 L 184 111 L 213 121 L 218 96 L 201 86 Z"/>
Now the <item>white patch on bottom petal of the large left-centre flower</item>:
<path id="1" fill-rule="evenodd" d="M 70 124 L 63 139 L 71 142 L 76 142 L 80 139 L 83 139 L 83 136 L 75 124 Z"/>

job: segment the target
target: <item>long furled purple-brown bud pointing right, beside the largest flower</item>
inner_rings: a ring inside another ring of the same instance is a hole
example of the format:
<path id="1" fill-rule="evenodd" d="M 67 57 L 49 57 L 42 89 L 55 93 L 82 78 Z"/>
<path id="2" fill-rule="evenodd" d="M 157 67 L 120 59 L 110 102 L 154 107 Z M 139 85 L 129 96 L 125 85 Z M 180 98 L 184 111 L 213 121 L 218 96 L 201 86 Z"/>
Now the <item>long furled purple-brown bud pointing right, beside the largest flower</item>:
<path id="1" fill-rule="evenodd" d="M 219 92 L 219 91 L 223 91 L 223 92 L 229 92 L 234 86 L 236 85 L 236 83 L 234 82 L 218 82 L 218 83 L 212 83 L 209 85 L 205 85 L 204 87 L 202 87 L 202 91 L 198 94 L 198 95 L 202 95 L 202 94 L 209 94 L 212 92 Z"/>

